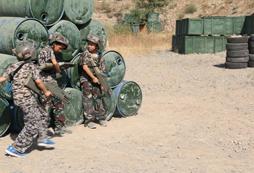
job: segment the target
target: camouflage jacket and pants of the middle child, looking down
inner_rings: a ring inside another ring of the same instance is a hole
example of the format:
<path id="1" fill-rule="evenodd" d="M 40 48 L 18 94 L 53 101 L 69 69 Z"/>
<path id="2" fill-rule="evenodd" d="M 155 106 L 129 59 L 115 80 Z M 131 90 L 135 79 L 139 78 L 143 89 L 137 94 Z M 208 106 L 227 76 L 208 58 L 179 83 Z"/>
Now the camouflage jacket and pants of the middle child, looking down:
<path id="1" fill-rule="evenodd" d="M 46 46 L 41 50 L 38 56 L 38 65 L 41 66 L 45 63 L 51 62 L 51 59 L 54 59 L 55 53 L 51 46 Z M 55 82 L 56 81 L 56 71 L 52 70 L 50 72 L 40 72 L 41 78 L 43 82 Z M 41 104 L 46 108 L 48 114 L 50 115 L 51 109 L 53 109 L 53 115 L 55 118 L 55 126 L 63 127 L 65 124 L 65 115 L 64 115 L 64 104 L 62 101 L 57 99 L 55 96 L 49 97 L 46 100 L 40 98 Z"/>

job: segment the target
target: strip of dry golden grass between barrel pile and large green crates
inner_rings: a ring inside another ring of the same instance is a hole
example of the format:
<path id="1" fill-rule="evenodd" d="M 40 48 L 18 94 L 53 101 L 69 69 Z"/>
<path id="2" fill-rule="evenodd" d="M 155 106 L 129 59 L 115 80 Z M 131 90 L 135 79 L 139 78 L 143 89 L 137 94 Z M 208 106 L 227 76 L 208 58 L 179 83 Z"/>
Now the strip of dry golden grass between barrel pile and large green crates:
<path id="1" fill-rule="evenodd" d="M 171 50 L 172 35 L 173 33 L 113 34 L 108 38 L 109 49 L 119 52 L 122 56 Z"/>

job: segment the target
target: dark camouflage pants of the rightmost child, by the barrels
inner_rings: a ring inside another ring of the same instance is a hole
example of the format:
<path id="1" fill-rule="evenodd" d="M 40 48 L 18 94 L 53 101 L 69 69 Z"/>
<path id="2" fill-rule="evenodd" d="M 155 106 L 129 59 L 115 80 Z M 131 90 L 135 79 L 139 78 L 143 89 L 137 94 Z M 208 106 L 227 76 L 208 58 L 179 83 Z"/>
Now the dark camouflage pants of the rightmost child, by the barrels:
<path id="1" fill-rule="evenodd" d="M 105 120 L 105 109 L 103 107 L 100 94 L 100 85 L 92 84 L 86 81 L 81 84 L 82 105 L 84 108 L 85 125 L 89 122 L 97 120 Z"/>

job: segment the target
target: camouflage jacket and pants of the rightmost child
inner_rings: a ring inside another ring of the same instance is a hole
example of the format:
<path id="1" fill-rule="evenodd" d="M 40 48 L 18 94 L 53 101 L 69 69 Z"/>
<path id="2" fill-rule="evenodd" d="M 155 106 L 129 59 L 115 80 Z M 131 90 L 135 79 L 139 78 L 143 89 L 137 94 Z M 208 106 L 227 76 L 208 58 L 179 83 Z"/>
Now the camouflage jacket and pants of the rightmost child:
<path id="1" fill-rule="evenodd" d="M 88 50 L 86 50 L 79 58 L 79 65 L 87 65 L 89 58 L 93 58 L 94 62 L 98 64 L 102 73 L 106 72 L 105 59 L 99 53 L 94 57 Z M 100 62 L 98 62 L 100 60 Z M 82 68 L 83 69 L 83 68 Z M 89 122 L 97 120 L 105 120 L 105 109 L 103 107 L 100 85 L 92 82 L 92 79 L 86 74 L 84 70 L 81 72 L 80 77 L 81 91 L 83 92 L 82 104 L 85 110 L 85 125 Z"/>

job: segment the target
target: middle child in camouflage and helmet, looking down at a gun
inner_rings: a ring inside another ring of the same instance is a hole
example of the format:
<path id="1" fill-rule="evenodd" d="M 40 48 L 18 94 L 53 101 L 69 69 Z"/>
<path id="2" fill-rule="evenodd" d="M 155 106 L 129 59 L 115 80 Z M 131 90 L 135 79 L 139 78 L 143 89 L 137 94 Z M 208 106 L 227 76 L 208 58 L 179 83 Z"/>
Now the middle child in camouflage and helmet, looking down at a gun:
<path id="1" fill-rule="evenodd" d="M 49 36 L 50 45 L 43 48 L 38 55 L 38 65 L 41 66 L 45 63 L 53 63 L 54 69 L 49 72 L 41 71 L 40 75 L 42 76 L 43 82 L 55 82 L 56 81 L 56 73 L 60 73 L 59 64 L 56 61 L 55 54 L 60 53 L 63 49 L 67 49 L 69 45 L 69 40 L 63 36 L 55 36 L 50 34 Z M 64 115 L 64 104 L 62 101 L 57 99 L 54 95 L 46 100 L 40 98 L 41 104 L 46 108 L 48 114 L 50 115 L 51 109 L 53 109 L 53 115 L 55 119 L 56 130 L 48 131 L 48 135 L 52 136 L 55 134 L 64 134 L 64 133 L 72 133 L 71 130 L 68 130 L 65 127 L 65 115 Z"/>

